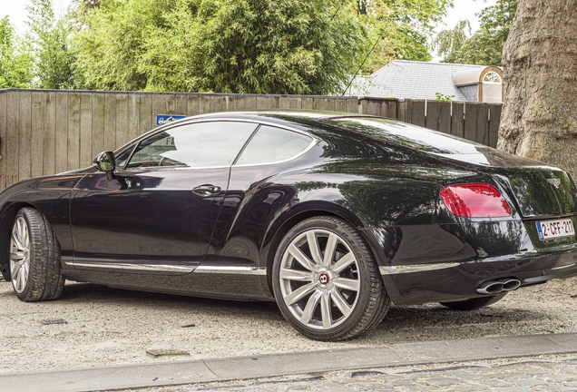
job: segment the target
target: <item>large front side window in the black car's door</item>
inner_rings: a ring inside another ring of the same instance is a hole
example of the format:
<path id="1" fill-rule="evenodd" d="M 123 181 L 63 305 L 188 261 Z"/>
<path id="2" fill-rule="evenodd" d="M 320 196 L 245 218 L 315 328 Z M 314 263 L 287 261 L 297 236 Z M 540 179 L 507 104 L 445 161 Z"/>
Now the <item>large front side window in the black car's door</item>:
<path id="1" fill-rule="evenodd" d="M 128 168 L 229 166 L 258 124 L 195 122 L 156 133 L 143 140 Z"/>

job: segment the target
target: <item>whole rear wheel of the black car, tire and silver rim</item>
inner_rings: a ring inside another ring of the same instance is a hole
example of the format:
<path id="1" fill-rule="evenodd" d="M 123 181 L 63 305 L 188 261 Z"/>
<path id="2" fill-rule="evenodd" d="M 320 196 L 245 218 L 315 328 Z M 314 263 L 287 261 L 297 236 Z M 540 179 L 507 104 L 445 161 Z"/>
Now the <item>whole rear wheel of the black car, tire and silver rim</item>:
<path id="1" fill-rule="evenodd" d="M 312 238 L 318 244 L 317 261 L 308 246 Z M 308 267 L 291 254 L 296 248 Z M 390 305 L 365 240 L 347 221 L 334 217 L 309 218 L 288 230 L 275 256 L 272 286 L 284 318 L 317 340 L 357 337 L 377 327 Z"/>

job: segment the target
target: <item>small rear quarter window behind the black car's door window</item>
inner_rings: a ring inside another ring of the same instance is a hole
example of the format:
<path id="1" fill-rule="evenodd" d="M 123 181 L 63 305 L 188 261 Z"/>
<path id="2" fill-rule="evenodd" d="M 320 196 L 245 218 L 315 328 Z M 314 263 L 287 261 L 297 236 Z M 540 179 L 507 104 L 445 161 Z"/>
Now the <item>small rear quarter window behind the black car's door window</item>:
<path id="1" fill-rule="evenodd" d="M 313 138 L 298 132 L 262 125 L 240 155 L 237 164 L 286 161 L 307 149 Z"/>

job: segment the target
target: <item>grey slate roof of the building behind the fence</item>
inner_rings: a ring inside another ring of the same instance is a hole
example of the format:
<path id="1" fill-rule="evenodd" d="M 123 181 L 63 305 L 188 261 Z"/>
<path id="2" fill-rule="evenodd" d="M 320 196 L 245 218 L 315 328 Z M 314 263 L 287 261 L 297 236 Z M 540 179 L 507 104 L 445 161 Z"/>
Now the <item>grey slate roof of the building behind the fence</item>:
<path id="1" fill-rule="evenodd" d="M 453 76 L 466 70 L 479 72 L 484 65 L 425 63 L 395 60 L 370 76 L 357 78 L 350 95 L 435 100 L 435 93 L 455 95 L 455 101 L 468 101 L 455 86 Z"/>

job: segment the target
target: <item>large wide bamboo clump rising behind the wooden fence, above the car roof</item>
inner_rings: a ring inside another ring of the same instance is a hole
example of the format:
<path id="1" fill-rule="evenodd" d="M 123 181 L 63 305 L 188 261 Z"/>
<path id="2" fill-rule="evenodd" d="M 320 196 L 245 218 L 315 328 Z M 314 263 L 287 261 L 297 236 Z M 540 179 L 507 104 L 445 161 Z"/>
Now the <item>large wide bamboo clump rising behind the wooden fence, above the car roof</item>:
<path id="1" fill-rule="evenodd" d="M 337 0 L 102 0 L 75 48 L 85 86 L 218 93 L 335 93 L 367 53 Z"/>

